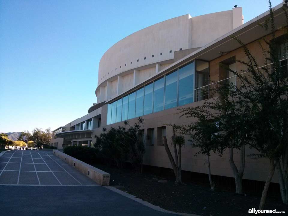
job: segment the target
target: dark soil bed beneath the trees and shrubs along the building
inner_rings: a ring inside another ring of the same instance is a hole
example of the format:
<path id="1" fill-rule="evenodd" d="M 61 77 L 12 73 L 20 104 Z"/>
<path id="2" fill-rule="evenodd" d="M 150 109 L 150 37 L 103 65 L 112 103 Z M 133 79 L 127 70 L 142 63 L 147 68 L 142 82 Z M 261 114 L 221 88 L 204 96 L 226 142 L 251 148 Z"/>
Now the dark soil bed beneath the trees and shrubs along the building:
<path id="1" fill-rule="evenodd" d="M 166 175 L 145 167 L 140 175 L 132 169 L 119 170 L 110 165 L 92 165 L 111 174 L 111 186 L 170 211 L 208 216 L 252 215 L 248 210 L 258 209 L 259 206 L 259 195 L 236 195 L 232 191 L 219 187 L 212 192 L 209 185 L 203 182 L 190 181 L 176 187 L 172 171 Z M 167 182 L 159 183 L 159 180 L 167 180 Z M 281 198 L 276 195 L 267 198 L 265 209 L 288 212 L 287 206 L 283 205 Z"/>

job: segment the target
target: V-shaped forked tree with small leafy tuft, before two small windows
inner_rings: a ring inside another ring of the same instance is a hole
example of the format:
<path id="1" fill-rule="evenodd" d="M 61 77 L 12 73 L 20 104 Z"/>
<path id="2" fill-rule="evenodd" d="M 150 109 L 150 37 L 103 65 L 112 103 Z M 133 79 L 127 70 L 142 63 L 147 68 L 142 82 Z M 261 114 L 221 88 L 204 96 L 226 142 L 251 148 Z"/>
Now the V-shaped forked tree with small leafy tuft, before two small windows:
<path id="1" fill-rule="evenodd" d="M 178 127 L 176 125 L 172 125 L 173 136 L 171 137 L 171 145 L 173 145 L 175 160 L 170 152 L 166 137 L 163 137 L 163 143 L 164 143 L 164 148 L 168 155 L 170 164 L 175 174 L 175 178 L 176 178 L 175 184 L 179 185 L 179 184 L 183 184 L 181 149 L 182 149 L 182 146 L 185 145 L 185 138 L 182 135 L 176 135 L 177 129 Z M 178 147 L 178 153 L 177 153 L 177 147 Z"/>

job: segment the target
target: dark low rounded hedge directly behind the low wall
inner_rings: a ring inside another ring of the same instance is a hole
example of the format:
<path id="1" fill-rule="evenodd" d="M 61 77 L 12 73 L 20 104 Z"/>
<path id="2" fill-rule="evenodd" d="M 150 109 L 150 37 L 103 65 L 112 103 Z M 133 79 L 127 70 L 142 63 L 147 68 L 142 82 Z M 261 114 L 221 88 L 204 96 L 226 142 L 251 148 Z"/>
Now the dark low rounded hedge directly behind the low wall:
<path id="1" fill-rule="evenodd" d="M 86 163 L 99 161 L 99 150 L 87 146 L 67 146 L 64 153 Z"/>

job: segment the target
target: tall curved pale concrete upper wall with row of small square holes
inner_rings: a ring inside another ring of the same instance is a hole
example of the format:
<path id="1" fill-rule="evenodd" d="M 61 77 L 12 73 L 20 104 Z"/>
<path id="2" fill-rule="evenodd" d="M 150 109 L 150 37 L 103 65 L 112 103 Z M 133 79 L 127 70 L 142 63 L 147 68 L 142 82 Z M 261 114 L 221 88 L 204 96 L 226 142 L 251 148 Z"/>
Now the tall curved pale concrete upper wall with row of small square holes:
<path id="1" fill-rule="evenodd" d="M 204 46 L 241 24 L 242 8 L 238 7 L 196 17 L 186 14 L 127 36 L 108 49 L 100 60 L 97 103 L 155 75 L 163 65 L 169 66 L 174 52 Z"/>

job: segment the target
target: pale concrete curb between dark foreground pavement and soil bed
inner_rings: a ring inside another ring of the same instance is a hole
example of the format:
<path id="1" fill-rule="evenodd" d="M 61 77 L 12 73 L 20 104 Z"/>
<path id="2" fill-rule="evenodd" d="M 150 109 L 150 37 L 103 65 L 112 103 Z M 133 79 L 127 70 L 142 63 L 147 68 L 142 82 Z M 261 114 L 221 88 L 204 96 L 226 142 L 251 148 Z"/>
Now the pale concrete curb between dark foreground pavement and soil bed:
<path id="1" fill-rule="evenodd" d="M 143 199 L 137 198 L 136 196 L 134 196 L 134 195 L 132 195 L 130 193 L 126 193 L 126 192 L 124 192 L 122 190 L 119 190 L 119 189 L 117 189 L 117 188 L 115 188 L 113 186 L 103 186 L 103 187 L 106 187 L 107 189 L 112 190 L 112 191 L 114 191 L 116 193 L 119 193 L 122 196 L 125 196 L 125 197 L 127 197 L 129 199 L 133 199 L 134 201 L 139 202 L 139 203 L 141 203 L 143 205 L 146 205 L 147 207 L 152 208 L 152 209 L 154 209 L 156 211 L 161 211 L 161 212 L 170 213 L 170 214 L 178 214 L 178 215 L 183 215 L 183 216 L 200 216 L 200 215 L 197 215 L 197 214 L 187 214 L 187 213 L 168 211 L 168 210 L 165 210 L 164 208 L 159 207 L 158 205 L 153 205 L 153 204 L 151 204 L 151 203 L 149 203 L 147 201 L 144 201 Z"/>

